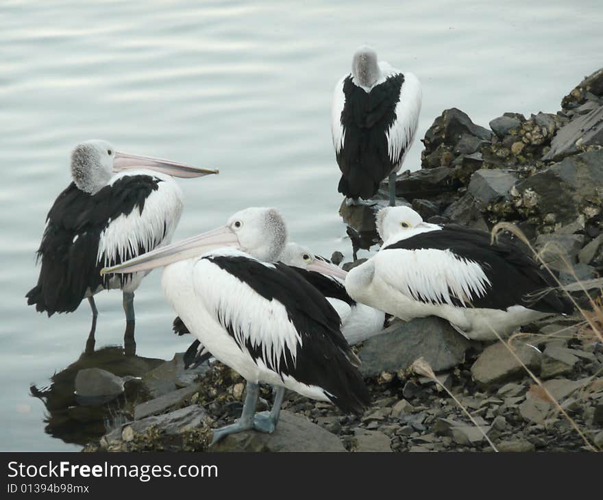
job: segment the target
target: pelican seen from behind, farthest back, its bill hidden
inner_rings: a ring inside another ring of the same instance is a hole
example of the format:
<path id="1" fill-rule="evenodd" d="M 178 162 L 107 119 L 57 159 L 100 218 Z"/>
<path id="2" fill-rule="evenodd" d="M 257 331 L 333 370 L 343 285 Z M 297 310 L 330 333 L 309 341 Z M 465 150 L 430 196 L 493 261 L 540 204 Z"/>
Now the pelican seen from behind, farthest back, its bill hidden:
<path id="1" fill-rule="evenodd" d="M 352 73 L 335 86 L 331 132 L 341 180 L 339 192 L 352 204 L 369 199 L 389 177 L 389 202 L 395 205 L 395 178 L 413 144 L 421 84 L 413 73 L 402 73 L 369 47 L 352 59 Z"/>

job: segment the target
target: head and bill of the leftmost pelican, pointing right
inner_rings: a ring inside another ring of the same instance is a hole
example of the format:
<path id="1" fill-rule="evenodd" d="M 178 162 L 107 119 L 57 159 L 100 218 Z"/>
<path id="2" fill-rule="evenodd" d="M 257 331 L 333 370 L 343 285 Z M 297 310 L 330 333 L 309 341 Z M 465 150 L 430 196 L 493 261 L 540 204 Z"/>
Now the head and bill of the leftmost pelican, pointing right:
<path id="1" fill-rule="evenodd" d="M 219 171 L 196 168 L 171 160 L 120 153 L 106 140 L 86 140 L 71 151 L 71 177 L 78 189 L 94 195 L 106 186 L 112 175 L 127 168 L 147 169 L 174 177 L 201 177 Z"/>

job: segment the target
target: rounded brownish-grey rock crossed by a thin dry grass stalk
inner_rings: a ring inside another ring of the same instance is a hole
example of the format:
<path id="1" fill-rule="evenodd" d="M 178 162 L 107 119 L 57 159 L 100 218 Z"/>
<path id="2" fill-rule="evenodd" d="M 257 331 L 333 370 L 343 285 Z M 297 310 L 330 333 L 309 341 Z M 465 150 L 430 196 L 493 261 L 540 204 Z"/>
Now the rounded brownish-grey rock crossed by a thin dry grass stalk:
<path id="1" fill-rule="evenodd" d="M 539 371 L 541 353 L 533 347 L 515 343 L 513 349 L 519 359 L 532 371 Z M 517 362 L 501 342 L 490 345 L 480 354 L 473 366 L 471 377 L 478 384 L 492 386 L 525 375 L 524 367 Z"/>

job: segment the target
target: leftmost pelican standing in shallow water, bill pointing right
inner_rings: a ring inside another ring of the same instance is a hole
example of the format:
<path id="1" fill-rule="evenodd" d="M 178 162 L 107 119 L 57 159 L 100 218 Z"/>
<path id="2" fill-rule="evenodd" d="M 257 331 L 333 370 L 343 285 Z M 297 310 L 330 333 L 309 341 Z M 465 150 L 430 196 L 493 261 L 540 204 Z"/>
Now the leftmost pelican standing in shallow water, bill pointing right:
<path id="1" fill-rule="evenodd" d="M 134 290 L 148 273 L 101 277 L 101 268 L 167 245 L 184 196 L 173 177 L 201 177 L 217 170 L 115 151 L 88 140 L 71 151 L 73 182 L 55 200 L 46 219 L 38 259 L 38 284 L 27 303 L 38 312 L 73 312 L 88 299 L 93 329 L 94 295 L 119 288 L 127 325 L 134 332 Z M 127 329 L 128 331 L 128 329 Z"/>

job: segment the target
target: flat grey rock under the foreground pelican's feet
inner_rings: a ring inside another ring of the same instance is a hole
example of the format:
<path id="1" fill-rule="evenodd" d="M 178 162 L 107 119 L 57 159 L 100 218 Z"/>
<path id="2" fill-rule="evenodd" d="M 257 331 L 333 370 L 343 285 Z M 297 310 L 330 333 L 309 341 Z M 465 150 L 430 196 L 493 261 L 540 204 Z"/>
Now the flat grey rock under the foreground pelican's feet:
<path id="1" fill-rule="evenodd" d="M 341 440 L 308 419 L 282 410 L 272 434 L 256 431 L 226 436 L 211 451 L 345 451 Z"/>

